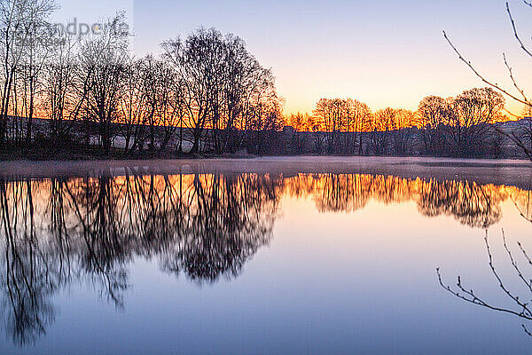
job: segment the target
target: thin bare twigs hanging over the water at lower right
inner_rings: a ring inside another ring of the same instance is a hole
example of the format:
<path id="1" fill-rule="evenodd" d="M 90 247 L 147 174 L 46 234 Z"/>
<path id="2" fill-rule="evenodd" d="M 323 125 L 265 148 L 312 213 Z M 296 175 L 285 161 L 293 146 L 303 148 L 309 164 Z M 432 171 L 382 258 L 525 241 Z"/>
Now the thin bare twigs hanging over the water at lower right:
<path id="1" fill-rule="evenodd" d="M 470 303 L 470 304 L 476 304 L 481 307 L 487 308 L 491 311 L 497 311 L 497 312 L 503 312 L 503 313 L 509 313 L 515 316 L 520 317 L 521 319 L 526 320 L 532 320 L 532 308 L 530 308 L 530 294 L 532 294 L 532 279 L 527 277 L 523 271 L 523 269 L 518 264 L 518 258 L 514 255 L 512 250 L 508 247 L 508 244 L 506 242 L 505 233 L 503 232 L 503 245 L 505 247 L 505 253 L 508 257 L 508 261 L 510 264 L 512 264 L 512 270 L 515 272 L 515 276 L 517 277 L 517 280 L 520 280 L 521 285 L 523 285 L 528 294 L 528 296 L 520 296 L 518 293 L 512 291 L 511 288 L 508 286 L 508 281 L 504 279 L 501 272 L 499 272 L 494 264 L 494 257 L 491 250 L 491 247 L 489 246 L 488 241 L 488 235 L 486 235 L 485 238 L 486 242 L 486 249 L 488 251 L 488 258 L 489 258 L 489 270 L 491 271 L 493 277 L 497 280 L 497 284 L 499 288 L 504 292 L 505 296 L 511 301 L 511 306 L 496 306 L 493 304 L 490 304 L 489 301 L 487 301 L 482 296 L 476 294 L 472 288 L 467 288 L 462 283 L 462 278 L 458 276 L 458 281 L 456 287 L 452 288 L 449 285 L 445 284 L 442 280 L 442 273 L 440 272 L 440 269 L 436 269 L 436 274 L 438 276 L 438 280 L 440 282 L 440 285 L 442 288 L 444 288 L 446 291 L 450 292 L 453 296 L 458 297 L 459 299 Z M 521 258 L 524 260 L 524 262 L 528 265 L 532 265 L 532 259 L 530 259 L 530 256 L 528 256 L 527 251 L 523 248 L 523 246 L 518 242 L 517 243 L 519 247 L 519 254 L 521 255 Z M 522 325 L 525 332 L 532 336 L 532 333 L 528 330 L 528 327 L 525 325 Z"/>

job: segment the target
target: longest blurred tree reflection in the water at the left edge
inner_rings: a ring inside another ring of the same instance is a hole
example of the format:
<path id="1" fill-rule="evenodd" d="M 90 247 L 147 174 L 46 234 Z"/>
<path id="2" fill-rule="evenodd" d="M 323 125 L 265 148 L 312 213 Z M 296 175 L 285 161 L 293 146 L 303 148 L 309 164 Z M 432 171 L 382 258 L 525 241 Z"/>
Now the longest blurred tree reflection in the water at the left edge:
<path id="1" fill-rule="evenodd" d="M 54 256 L 43 247 L 35 231 L 33 185 L 29 181 L 13 185 L 0 181 L 4 234 L 0 282 L 6 328 L 15 343 L 32 342 L 44 333 L 55 313 L 48 296 L 62 281 L 55 277 L 60 264 L 52 262 Z"/>

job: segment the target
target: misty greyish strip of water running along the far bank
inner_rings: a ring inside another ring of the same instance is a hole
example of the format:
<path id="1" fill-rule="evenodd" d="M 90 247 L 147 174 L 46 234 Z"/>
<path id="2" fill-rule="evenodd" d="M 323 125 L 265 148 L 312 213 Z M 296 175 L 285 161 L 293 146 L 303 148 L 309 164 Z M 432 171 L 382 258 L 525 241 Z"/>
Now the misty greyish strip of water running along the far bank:
<path id="1" fill-rule="evenodd" d="M 532 162 L 525 160 L 418 157 L 258 157 L 97 161 L 0 162 L 0 177 L 48 179 L 176 174 L 367 174 L 409 179 L 468 180 L 482 185 L 532 189 Z"/>

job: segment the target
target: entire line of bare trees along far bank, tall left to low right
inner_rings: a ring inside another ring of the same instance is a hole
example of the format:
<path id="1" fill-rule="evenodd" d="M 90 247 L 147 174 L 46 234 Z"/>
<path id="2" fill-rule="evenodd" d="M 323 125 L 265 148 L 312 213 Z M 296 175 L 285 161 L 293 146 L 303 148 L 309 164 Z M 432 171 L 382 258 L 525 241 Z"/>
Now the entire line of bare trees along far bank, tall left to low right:
<path id="1" fill-rule="evenodd" d="M 80 36 L 51 24 L 57 9 L 0 1 L 0 151 L 499 157 L 508 137 L 532 151 L 530 120 L 497 130 L 505 99 L 491 88 L 416 111 L 319 99 L 286 116 L 271 69 L 239 36 L 200 28 L 137 58 L 123 13 Z"/>

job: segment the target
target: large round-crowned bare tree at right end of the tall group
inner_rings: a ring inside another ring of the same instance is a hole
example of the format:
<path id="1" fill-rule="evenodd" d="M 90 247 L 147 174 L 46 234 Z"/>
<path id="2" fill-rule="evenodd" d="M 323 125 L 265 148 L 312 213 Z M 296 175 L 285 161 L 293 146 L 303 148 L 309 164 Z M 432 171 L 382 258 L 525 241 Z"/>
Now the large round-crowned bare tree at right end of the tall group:
<path id="1" fill-rule="evenodd" d="M 200 152 L 202 140 L 204 148 L 217 154 L 239 149 L 247 136 L 249 115 L 277 99 L 270 69 L 259 64 L 241 38 L 223 36 L 214 28 L 200 28 L 185 40 L 177 38 L 162 47 L 164 59 L 177 73 L 179 106 L 186 116 L 180 121 L 191 132 L 191 153 Z"/>

